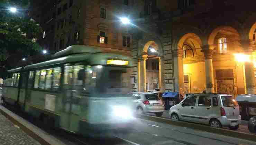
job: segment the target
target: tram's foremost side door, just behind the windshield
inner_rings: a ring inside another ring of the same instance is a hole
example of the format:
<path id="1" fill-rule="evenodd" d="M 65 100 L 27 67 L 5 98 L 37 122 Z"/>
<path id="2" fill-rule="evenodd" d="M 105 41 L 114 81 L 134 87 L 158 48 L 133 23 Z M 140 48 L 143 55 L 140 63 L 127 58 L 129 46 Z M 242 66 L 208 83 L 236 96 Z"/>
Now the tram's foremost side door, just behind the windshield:
<path id="1" fill-rule="evenodd" d="M 84 66 L 65 66 L 63 80 L 63 100 L 61 128 L 72 132 L 79 131 L 81 114 L 81 91 L 83 90 Z"/>

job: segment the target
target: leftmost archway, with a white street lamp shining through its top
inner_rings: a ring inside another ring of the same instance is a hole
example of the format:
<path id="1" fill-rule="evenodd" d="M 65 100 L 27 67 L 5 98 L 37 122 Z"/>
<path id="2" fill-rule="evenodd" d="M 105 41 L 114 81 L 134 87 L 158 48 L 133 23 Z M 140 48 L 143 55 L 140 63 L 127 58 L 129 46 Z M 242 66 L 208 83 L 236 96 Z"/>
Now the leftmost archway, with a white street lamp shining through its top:
<path id="1" fill-rule="evenodd" d="M 165 91 L 163 52 L 155 41 L 148 41 L 138 62 L 138 91 Z"/>

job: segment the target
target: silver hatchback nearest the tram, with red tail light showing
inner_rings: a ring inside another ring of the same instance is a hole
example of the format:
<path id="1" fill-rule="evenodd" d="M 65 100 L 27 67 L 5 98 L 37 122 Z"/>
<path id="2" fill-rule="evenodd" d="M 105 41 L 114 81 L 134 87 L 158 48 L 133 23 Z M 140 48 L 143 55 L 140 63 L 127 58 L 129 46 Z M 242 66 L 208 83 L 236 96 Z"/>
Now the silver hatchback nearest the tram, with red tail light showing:
<path id="1" fill-rule="evenodd" d="M 158 117 L 163 115 L 164 104 L 156 94 L 144 92 L 133 92 L 130 94 L 133 98 L 132 106 L 136 109 L 137 114 L 155 113 Z"/>

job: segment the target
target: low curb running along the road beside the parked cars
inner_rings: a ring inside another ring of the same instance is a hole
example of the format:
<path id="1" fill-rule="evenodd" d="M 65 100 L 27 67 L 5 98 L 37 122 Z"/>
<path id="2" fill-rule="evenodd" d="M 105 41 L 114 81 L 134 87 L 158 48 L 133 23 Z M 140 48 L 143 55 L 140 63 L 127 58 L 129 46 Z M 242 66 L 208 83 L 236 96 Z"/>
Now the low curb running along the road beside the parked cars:
<path id="1" fill-rule="evenodd" d="M 225 136 L 229 136 L 229 137 L 240 138 L 240 139 L 245 139 L 248 141 L 256 142 L 256 135 L 254 135 L 254 134 L 236 132 L 236 131 L 232 131 L 229 129 L 223 129 L 223 128 L 213 128 L 213 127 L 210 127 L 207 125 L 201 125 L 201 124 L 195 124 L 195 123 L 189 123 L 189 122 L 174 121 L 171 119 L 155 117 L 155 116 L 140 115 L 137 117 L 140 119 L 146 119 L 146 120 L 155 121 L 155 122 L 159 122 L 159 123 L 182 126 L 182 127 L 196 129 L 199 131 L 205 131 L 205 132 L 209 132 L 209 133 L 215 133 L 215 134 L 219 134 L 219 135 L 225 135 Z"/>

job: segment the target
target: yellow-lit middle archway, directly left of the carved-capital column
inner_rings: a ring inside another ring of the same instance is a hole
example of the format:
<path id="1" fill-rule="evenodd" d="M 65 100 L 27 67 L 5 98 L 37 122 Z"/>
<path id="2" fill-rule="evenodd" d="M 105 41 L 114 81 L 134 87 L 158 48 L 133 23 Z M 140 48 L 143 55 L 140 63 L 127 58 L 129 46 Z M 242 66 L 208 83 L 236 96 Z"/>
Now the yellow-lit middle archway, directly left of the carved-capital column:
<path id="1" fill-rule="evenodd" d="M 183 73 L 181 71 L 179 72 L 180 78 L 182 77 L 182 81 L 180 81 L 180 84 L 182 83 L 182 85 L 179 86 L 181 94 L 202 93 L 205 88 L 205 77 L 202 77 L 205 75 L 205 67 L 201 46 L 202 41 L 195 33 L 185 34 L 178 42 L 178 49 L 180 49 L 178 51 L 182 52 L 183 62 Z M 181 76 L 181 74 L 183 76 Z"/>

